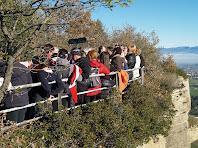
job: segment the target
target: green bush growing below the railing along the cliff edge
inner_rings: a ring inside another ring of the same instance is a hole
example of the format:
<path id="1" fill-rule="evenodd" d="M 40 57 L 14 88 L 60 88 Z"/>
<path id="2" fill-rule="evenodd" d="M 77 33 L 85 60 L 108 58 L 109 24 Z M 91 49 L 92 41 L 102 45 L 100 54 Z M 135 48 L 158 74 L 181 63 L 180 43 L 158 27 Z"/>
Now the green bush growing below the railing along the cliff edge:
<path id="1" fill-rule="evenodd" d="M 136 147 L 168 135 L 174 115 L 170 96 L 154 88 L 131 85 L 123 102 L 90 103 L 68 114 L 48 113 L 28 128 L 1 135 L 1 147 Z M 112 94 L 114 96 L 114 94 Z M 12 139 L 12 140 L 10 140 Z"/>

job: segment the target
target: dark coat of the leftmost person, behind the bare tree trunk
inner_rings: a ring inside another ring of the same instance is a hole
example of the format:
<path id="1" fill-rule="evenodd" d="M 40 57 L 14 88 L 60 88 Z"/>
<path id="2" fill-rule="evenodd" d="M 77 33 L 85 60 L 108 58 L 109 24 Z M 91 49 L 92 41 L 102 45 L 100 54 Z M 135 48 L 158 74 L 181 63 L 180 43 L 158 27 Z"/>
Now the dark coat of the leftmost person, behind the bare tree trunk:
<path id="1" fill-rule="evenodd" d="M 6 66 L 2 68 L 4 75 L 6 74 L 5 69 Z M 32 77 L 28 68 L 18 62 L 14 63 L 11 83 L 13 86 L 31 84 Z M 21 90 L 13 90 L 11 92 L 7 92 L 2 100 L 2 103 L 4 104 L 5 108 L 28 105 L 29 104 L 28 91 L 30 89 L 31 88 L 23 88 Z"/>

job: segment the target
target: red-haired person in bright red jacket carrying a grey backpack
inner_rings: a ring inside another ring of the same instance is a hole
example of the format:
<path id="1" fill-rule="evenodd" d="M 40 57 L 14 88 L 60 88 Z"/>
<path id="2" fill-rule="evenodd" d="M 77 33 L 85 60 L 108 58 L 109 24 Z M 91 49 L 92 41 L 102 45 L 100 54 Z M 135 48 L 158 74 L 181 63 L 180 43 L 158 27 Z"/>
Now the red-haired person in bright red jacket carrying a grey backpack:
<path id="1" fill-rule="evenodd" d="M 110 70 L 106 66 L 104 66 L 104 64 L 98 62 L 98 59 L 97 59 L 98 53 L 97 53 L 97 51 L 95 51 L 95 50 L 89 51 L 88 57 L 90 59 L 90 66 L 99 68 L 99 71 L 100 71 L 99 73 L 100 74 L 104 73 L 105 75 L 108 75 L 110 73 Z M 99 88 L 101 88 L 101 82 L 100 82 L 100 85 L 97 86 L 97 87 L 88 88 L 88 91 L 89 90 L 94 90 L 94 89 L 99 89 Z M 101 90 L 98 90 L 98 91 L 87 93 L 85 95 L 86 96 L 92 96 L 91 100 L 93 101 L 93 100 L 96 99 L 96 95 L 98 95 L 100 93 L 101 93 Z"/>

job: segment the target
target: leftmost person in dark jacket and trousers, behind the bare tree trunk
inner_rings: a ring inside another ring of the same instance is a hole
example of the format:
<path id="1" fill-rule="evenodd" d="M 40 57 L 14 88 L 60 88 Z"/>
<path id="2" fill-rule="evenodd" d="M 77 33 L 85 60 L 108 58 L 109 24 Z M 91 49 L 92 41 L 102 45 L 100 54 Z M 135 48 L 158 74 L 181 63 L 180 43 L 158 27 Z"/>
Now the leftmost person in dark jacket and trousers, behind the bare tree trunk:
<path id="1" fill-rule="evenodd" d="M 6 65 L 2 67 L 2 76 L 5 76 Z M 24 84 L 31 84 L 32 77 L 28 68 L 21 63 L 14 62 L 13 64 L 13 74 L 11 77 L 12 86 L 19 86 Z M 5 109 L 13 108 L 13 107 L 22 107 L 29 104 L 28 91 L 31 88 L 23 88 L 21 90 L 13 90 L 6 92 L 2 103 L 4 104 Z M 25 118 L 27 108 L 8 112 L 7 120 L 14 122 L 22 122 Z"/>

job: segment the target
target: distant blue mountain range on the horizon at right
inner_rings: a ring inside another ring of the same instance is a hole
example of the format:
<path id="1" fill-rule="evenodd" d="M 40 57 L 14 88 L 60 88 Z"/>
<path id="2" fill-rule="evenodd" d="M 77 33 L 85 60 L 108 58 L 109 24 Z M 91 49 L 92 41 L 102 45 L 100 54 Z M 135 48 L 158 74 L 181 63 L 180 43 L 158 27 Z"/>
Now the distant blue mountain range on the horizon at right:
<path id="1" fill-rule="evenodd" d="M 198 54 L 198 46 L 189 47 L 189 46 L 181 46 L 181 47 L 173 47 L 173 48 L 162 48 L 160 50 L 161 53 L 196 53 Z"/>

